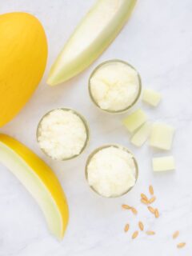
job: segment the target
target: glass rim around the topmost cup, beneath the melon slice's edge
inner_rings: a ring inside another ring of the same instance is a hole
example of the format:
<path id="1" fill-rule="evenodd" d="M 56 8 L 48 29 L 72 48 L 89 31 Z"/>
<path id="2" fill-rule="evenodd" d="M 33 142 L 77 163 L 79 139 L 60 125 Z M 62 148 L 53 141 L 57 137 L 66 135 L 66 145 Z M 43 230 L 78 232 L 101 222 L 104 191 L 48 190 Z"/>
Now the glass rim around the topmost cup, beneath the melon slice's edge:
<path id="1" fill-rule="evenodd" d="M 110 64 L 111 62 L 120 62 L 120 63 L 123 63 L 123 64 L 126 64 L 127 66 L 130 66 L 133 70 L 135 70 L 138 74 L 138 94 L 137 94 L 137 97 L 134 99 L 134 102 L 132 102 L 129 106 L 126 106 L 126 108 L 124 108 L 123 110 L 104 110 L 101 108 L 101 106 L 98 105 L 98 102 L 95 101 L 94 99 L 94 96 L 91 92 L 91 86 L 90 86 L 90 79 L 93 78 L 94 74 L 104 65 L 106 64 Z M 136 70 L 136 68 L 134 68 L 134 66 L 130 65 L 130 63 L 128 62 L 125 62 L 125 61 L 122 61 L 121 59 L 110 59 L 106 62 L 102 62 L 100 63 L 98 66 L 96 66 L 94 68 L 94 70 L 92 71 L 92 73 L 90 74 L 90 78 L 89 78 L 89 82 L 88 82 L 88 89 L 89 89 L 89 94 L 90 94 L 90 99 L 91 101 L 94 103 L 95 106 L 97 106 L 100 110 L 104 111 L 104 112 L 107 112 L 109 114 L 121 114 L 121 113 L 124 113 L 126 112 L 127 110 L 130 110 L 130 108 L 132 106 L 134 106 L 136 104 L 136 102 L 138 102 L 138 99 L 140 98 L 141 94 L 142 94 L 142 78 L 140 76 L 140 74 L 138 73 L 138 70 Z"/>

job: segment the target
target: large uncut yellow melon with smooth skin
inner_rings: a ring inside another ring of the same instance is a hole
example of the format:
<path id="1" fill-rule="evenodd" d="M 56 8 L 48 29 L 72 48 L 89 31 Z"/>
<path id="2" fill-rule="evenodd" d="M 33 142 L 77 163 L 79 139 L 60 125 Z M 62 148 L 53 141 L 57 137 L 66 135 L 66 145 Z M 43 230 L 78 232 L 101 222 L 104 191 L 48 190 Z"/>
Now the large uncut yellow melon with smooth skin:
<path id="1" fill-rule="evenodd" d="M 0 126 L 30 99 L 46 59 L 46 34 L 37 18 L 20 12 L 0 15 Z"/>

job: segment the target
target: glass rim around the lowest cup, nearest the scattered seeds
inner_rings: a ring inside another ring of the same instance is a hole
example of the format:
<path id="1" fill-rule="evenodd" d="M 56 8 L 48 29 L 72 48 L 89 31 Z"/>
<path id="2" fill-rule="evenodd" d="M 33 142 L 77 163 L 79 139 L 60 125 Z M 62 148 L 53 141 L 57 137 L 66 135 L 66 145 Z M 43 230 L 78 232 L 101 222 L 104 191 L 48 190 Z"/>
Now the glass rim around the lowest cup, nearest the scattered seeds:
<path id="1" fill-rule="evenodd" d="M 128 149 L 126 148 L 126 146 L 122 146 L 122 145 L 119 145 L 119 144 L 106 144 L 106 145 L 103 145 L 103 146 L 99 146 L 98 148 L 96 148 L 95 150 L 93 150 L 90 155 L 88 156 L 87 160 L 86 160 L 86 168 L 85 168 L 85 176 L 86 176 L 86 182 L 88 183 L 88 186 L 90 186 L 89 184 L 89 180 L 88 180 L 88 171 L 87 171 L 87 168 L 88 168 L 88 165 L 90 164 L 90 161 L 91 159 L 94 157 L 95 154 L 97 154 L 100 150 L 103 150 L 103 149 L 106 149 L 106 148 L 109 148 L 109 147 L 115 147 L 115 148 L 118 148 L 118 149 L 122 149 L 122 150 L 125 150 L 127 153 L 131 154 L 132 157 L 133 157 L 133 160 L 134 160 L 134 166 L 135 166 L 135 183 L 134 183 L 134 186 L 136 185 L 136 182 L 138 181 L 138 162 L 136 160 L 136 158 L 134 157 L 134 154 Z M 94 186 L 90 186 L 90 189 L 92 191 L 94 191 L 94 193 L 100 195 L 102 198 L 119 198 L 119 197 L 122 197 L 122 195 L 125 195 L 127 194 L 128 192 L 130 192 L 130 190 L 132 190 L 134 188 L 134 186 L 131 186 L 128 190 L 126 190 L 125 192 L 123 192 L 122 194 L 118 194 L 118 195 L 115 195 L 115 196 L 110 196 L 110 197 L 105 197 L 103 196 L 102 194 L 99 194 L 97 190 L 94 189 Z"/>

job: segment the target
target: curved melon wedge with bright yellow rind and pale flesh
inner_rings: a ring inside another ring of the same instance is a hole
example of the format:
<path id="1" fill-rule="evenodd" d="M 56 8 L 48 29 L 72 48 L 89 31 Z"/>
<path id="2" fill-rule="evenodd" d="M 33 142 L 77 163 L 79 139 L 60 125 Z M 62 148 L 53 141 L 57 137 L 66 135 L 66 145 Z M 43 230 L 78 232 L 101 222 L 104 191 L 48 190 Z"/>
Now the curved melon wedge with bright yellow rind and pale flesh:
<path id="1" fill-rule="evenodd" d="M 0 162 L 38 202 L 50 232 L 61 239 L 69 213 L 65 194 L 53 170 L 21 142 L 5 134 L 0 134 Z"/>

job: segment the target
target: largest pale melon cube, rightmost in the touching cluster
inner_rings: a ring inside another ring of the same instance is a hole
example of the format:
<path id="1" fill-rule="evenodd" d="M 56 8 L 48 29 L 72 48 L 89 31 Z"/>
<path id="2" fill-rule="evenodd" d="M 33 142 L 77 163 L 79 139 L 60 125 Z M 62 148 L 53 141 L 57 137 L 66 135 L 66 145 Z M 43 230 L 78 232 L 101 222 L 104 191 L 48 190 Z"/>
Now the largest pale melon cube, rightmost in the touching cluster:
<path id="1" fill-rule="evenodd" d="M 164 123 L 154 123 L 150 134 L 150 146 L 170 150 L 174 138 L 174 127 Z"/>

